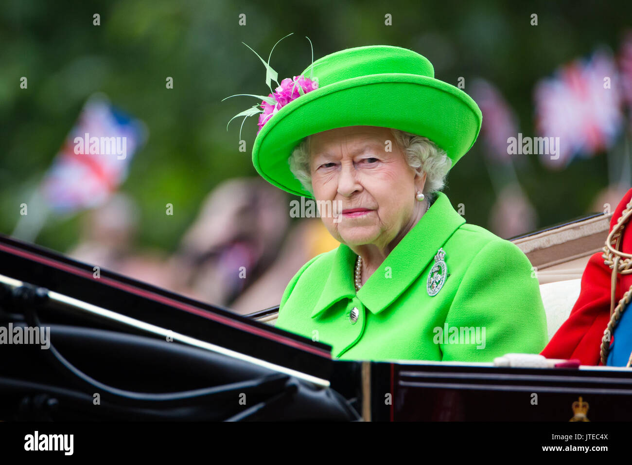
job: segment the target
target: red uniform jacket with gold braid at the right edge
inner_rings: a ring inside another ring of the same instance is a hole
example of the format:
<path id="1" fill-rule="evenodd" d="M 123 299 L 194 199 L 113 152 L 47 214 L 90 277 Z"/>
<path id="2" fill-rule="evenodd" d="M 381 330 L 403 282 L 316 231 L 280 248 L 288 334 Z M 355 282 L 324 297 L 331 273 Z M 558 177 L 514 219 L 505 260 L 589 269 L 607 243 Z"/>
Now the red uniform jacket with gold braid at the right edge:
<path id="1" fill-rule="evenodd" d="M 610 221 L 610 230 L 617 224 L 621 213 L 632 198 L 632 189 L 626 192 Z M 632 252 L 632 223 L 623 229 L 620 250 Z M 605 245 L 605 240 L 604 240 Z M 610 293 L 612 270 L 604 264 L 603 252 L 590 257 L 581 276 L 580 297 L 571 314 L 551 338 L 541 354 L 553 359 L 580 359 L 582 365 L 599 365 L 599 349 L 604 330 L 610 321 Z M 632 285 L 632 275 L 617 275 L 616 303 Z"/>

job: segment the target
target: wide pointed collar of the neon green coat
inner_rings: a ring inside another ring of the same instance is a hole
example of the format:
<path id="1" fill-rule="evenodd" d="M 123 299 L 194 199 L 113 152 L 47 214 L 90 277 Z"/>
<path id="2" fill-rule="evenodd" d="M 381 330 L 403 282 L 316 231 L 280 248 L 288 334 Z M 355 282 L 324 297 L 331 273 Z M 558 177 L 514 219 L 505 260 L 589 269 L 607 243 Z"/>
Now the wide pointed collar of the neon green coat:
<path id="1" fill-rule="evenodd" d="M 372 313 L 380 313 L 415 281 L 434 259 L 439 247 L 445 244 L 463 223 L 465 219 L 454 210 L 446 194 L 437 192 L 437 199 L 430 209 L 399 241 L 357 294 L 353 285 L 357 256 L 348 245 L 340 244 L 325 287 L 312 311 L 312 318 L 316 318 L 344 297 L 351 298 L 356 295 Z M 390 278 L 386 276 L 387 267 L 390 267 L 392 273 Z M 384 292 L 386 289 L 388 292 Z"/>

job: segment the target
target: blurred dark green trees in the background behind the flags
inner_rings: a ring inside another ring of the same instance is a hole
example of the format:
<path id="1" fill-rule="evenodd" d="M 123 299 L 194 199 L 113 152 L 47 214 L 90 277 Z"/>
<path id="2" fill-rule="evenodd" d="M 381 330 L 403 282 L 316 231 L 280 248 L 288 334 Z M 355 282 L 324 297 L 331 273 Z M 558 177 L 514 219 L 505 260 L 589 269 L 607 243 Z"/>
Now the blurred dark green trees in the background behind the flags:
<path id="1" fill-rule="evenodd" d="M 200 202 L 226 178 L 253 175 L 250 150 L 256 118 L 228 120 L 265 94 L 265 72 L 245 42 L 272 55 L 279 81 L 314 59 L 346 47 L 391 44 L 427 56 L 435 76 L 456 84 L 484 77 L 516 109 L 533 134 L 532 90 L 564 61 L 605 44 L 617 49 L 632 26 L 628 1 L 337 2 L 14 0 L 0 7 L 0 232 L 11 233 L 90 94 L 102 91 L 147 123 L 149 140 L 135 155 L 123 192 L 142 211 L 138 245 L 171 251 Z M 100 26 L 93 25 L 99 13 Z M 238 24 L 240 13 L 246 25 Z M 392 26 L 384 15 L 392 15 Z M 530 15 L 538 14 L 538 25 Z M 20 77 L 28 89 L 20 89 Z M 166 77 L 174 88 L 166 89 Z M 242 99 L 242 100 L 240 100 Z M 466 219 L 487 226 L 494 191 L 476 144 L 451 171 L 446 194 L 467 201 Z M 607 185 L 604 156 L 545 170 L 535 156 L 516 163 L 540 226 L 586 213 Z M 167 203 L 174 215 L 166 216 Z M 166 219 L 167 218 L 167 219 Z M 49 221 L 38 243 L 65 251 L 78 239 L 80 216 Z"/>

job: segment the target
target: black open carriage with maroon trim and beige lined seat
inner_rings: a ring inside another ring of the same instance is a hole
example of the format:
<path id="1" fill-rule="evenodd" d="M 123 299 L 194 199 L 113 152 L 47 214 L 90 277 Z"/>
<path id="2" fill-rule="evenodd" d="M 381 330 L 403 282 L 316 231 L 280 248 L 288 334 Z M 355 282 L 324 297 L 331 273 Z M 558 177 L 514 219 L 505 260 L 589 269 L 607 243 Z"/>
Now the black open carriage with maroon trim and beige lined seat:
<path id="1" fill-rule="evenodd" d="M 512 239 L 540 282 L 549 338 L 610 218 Z M 629 368 L 341 361 L 275 328 L 277 310 L 239 316 L 0 237 L 0 325 L 23 328 L 0 347 L 0 419 L 632 418 Z M 47 340 L 25 344 L 29 328 Z"/>

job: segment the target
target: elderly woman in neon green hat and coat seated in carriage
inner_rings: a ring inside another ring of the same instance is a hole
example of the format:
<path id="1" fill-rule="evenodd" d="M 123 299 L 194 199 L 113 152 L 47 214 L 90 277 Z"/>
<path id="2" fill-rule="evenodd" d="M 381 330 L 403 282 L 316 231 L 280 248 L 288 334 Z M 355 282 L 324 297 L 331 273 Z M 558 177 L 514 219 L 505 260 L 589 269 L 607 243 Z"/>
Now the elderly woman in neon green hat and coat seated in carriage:
<path id="1" fill-rule="evenodd" d="M 343 359 L 483 362 L 544 348 L 525 254 L 465 223 L 441 192 L 480 130 L 465 92 L 436 80 L 420 54 L 367 46 L 315 61 L 269 97 L 255 168 L 331 204 L 322 221 L 340 242 L 289 282 L 278 328 Z"/>

